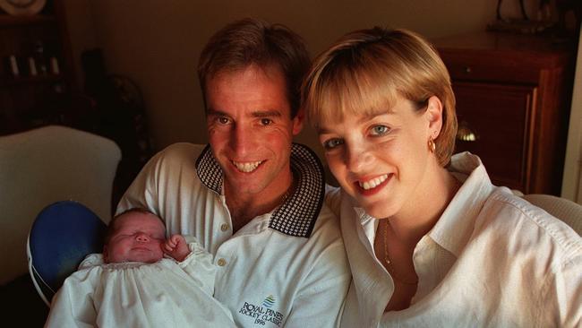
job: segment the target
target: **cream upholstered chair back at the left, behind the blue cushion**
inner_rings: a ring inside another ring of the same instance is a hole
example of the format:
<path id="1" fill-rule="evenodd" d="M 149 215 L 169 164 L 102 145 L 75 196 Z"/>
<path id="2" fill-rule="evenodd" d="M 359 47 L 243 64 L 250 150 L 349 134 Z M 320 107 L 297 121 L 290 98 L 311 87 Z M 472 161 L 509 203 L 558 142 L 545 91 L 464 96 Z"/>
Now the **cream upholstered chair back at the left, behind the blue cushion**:
<path id="1" fill-rule="evenodd" d="M 0 284 L 28 272 L 26 237 L 47 204 L 74 200 L 110 220 L 120 160 L 115 142 L 65 126 L 0 136 Z"/>

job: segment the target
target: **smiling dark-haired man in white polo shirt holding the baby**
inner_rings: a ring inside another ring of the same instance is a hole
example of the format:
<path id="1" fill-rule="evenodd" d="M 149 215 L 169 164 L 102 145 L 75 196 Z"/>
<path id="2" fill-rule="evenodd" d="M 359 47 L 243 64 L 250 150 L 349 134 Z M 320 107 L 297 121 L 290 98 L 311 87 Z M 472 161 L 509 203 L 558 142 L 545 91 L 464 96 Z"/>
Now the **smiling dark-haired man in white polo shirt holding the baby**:
<path id="1" fill-rule="evenodd" d="M 168 234 L 196 237 L 218 265 L 215 298 L 242 327 L 333 327 L 347 294 L 321 163 L 292 143 L 308 66 L 302 40 L 282 25 L 245 19 L 219 30 L 198 67 L 210 145 L 158 153 L 117 208 L 147 207 Z"/>

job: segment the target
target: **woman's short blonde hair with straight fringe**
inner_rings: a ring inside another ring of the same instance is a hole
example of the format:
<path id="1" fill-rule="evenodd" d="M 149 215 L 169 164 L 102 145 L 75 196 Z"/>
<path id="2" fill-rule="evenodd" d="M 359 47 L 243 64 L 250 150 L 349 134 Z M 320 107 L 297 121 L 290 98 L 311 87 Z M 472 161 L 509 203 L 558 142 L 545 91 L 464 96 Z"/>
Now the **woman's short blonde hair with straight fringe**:
<path id="1" fill-rule="evenodd" d="M 302 88 L 310 123 L 337 122 L 345 115 L 392 108 L 397 97 L 424 111 L 436 96 L 443 105 L 441 133 L 434 140 L 441 166 L 455 148 L 455 96 L 447 68 L 431 44 L 409 30 L 375 27 L 338 39 L 313 62 Z"/>

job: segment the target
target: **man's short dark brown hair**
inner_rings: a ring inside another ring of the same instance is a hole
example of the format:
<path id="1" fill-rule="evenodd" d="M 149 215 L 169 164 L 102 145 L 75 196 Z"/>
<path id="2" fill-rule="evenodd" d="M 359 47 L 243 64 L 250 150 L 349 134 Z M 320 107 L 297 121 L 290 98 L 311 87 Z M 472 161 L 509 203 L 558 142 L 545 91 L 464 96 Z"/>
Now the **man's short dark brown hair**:
<path id="1" fill-rule="evenodd" d="M 218 73 L 237 72 L 250 65 L 281 70 L 287 83 L 291 117 L 295 117 L 300 105 L 301 83 L 310 65 L 304 41 L 285 25 L 271 25 L 252 18 L 227 24 L 202 49 L 198 79 L 204 107 L 208 109 L 206 84 L 210 79 Z"/>

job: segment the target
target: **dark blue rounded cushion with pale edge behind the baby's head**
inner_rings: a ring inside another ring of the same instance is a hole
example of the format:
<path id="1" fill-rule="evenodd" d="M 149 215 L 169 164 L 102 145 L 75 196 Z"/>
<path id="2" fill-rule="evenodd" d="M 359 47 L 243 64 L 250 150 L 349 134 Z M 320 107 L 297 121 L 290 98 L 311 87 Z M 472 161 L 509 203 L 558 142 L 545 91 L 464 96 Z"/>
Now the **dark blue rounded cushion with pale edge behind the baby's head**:
<path id="1" fill-rule="evenodd" d="M 102 252 L 106 229 L 106 224 L 81 203 L 58 202 L 40 211 L 30 229 L 30 274 L 46 301 L 86 255 Z"/>

